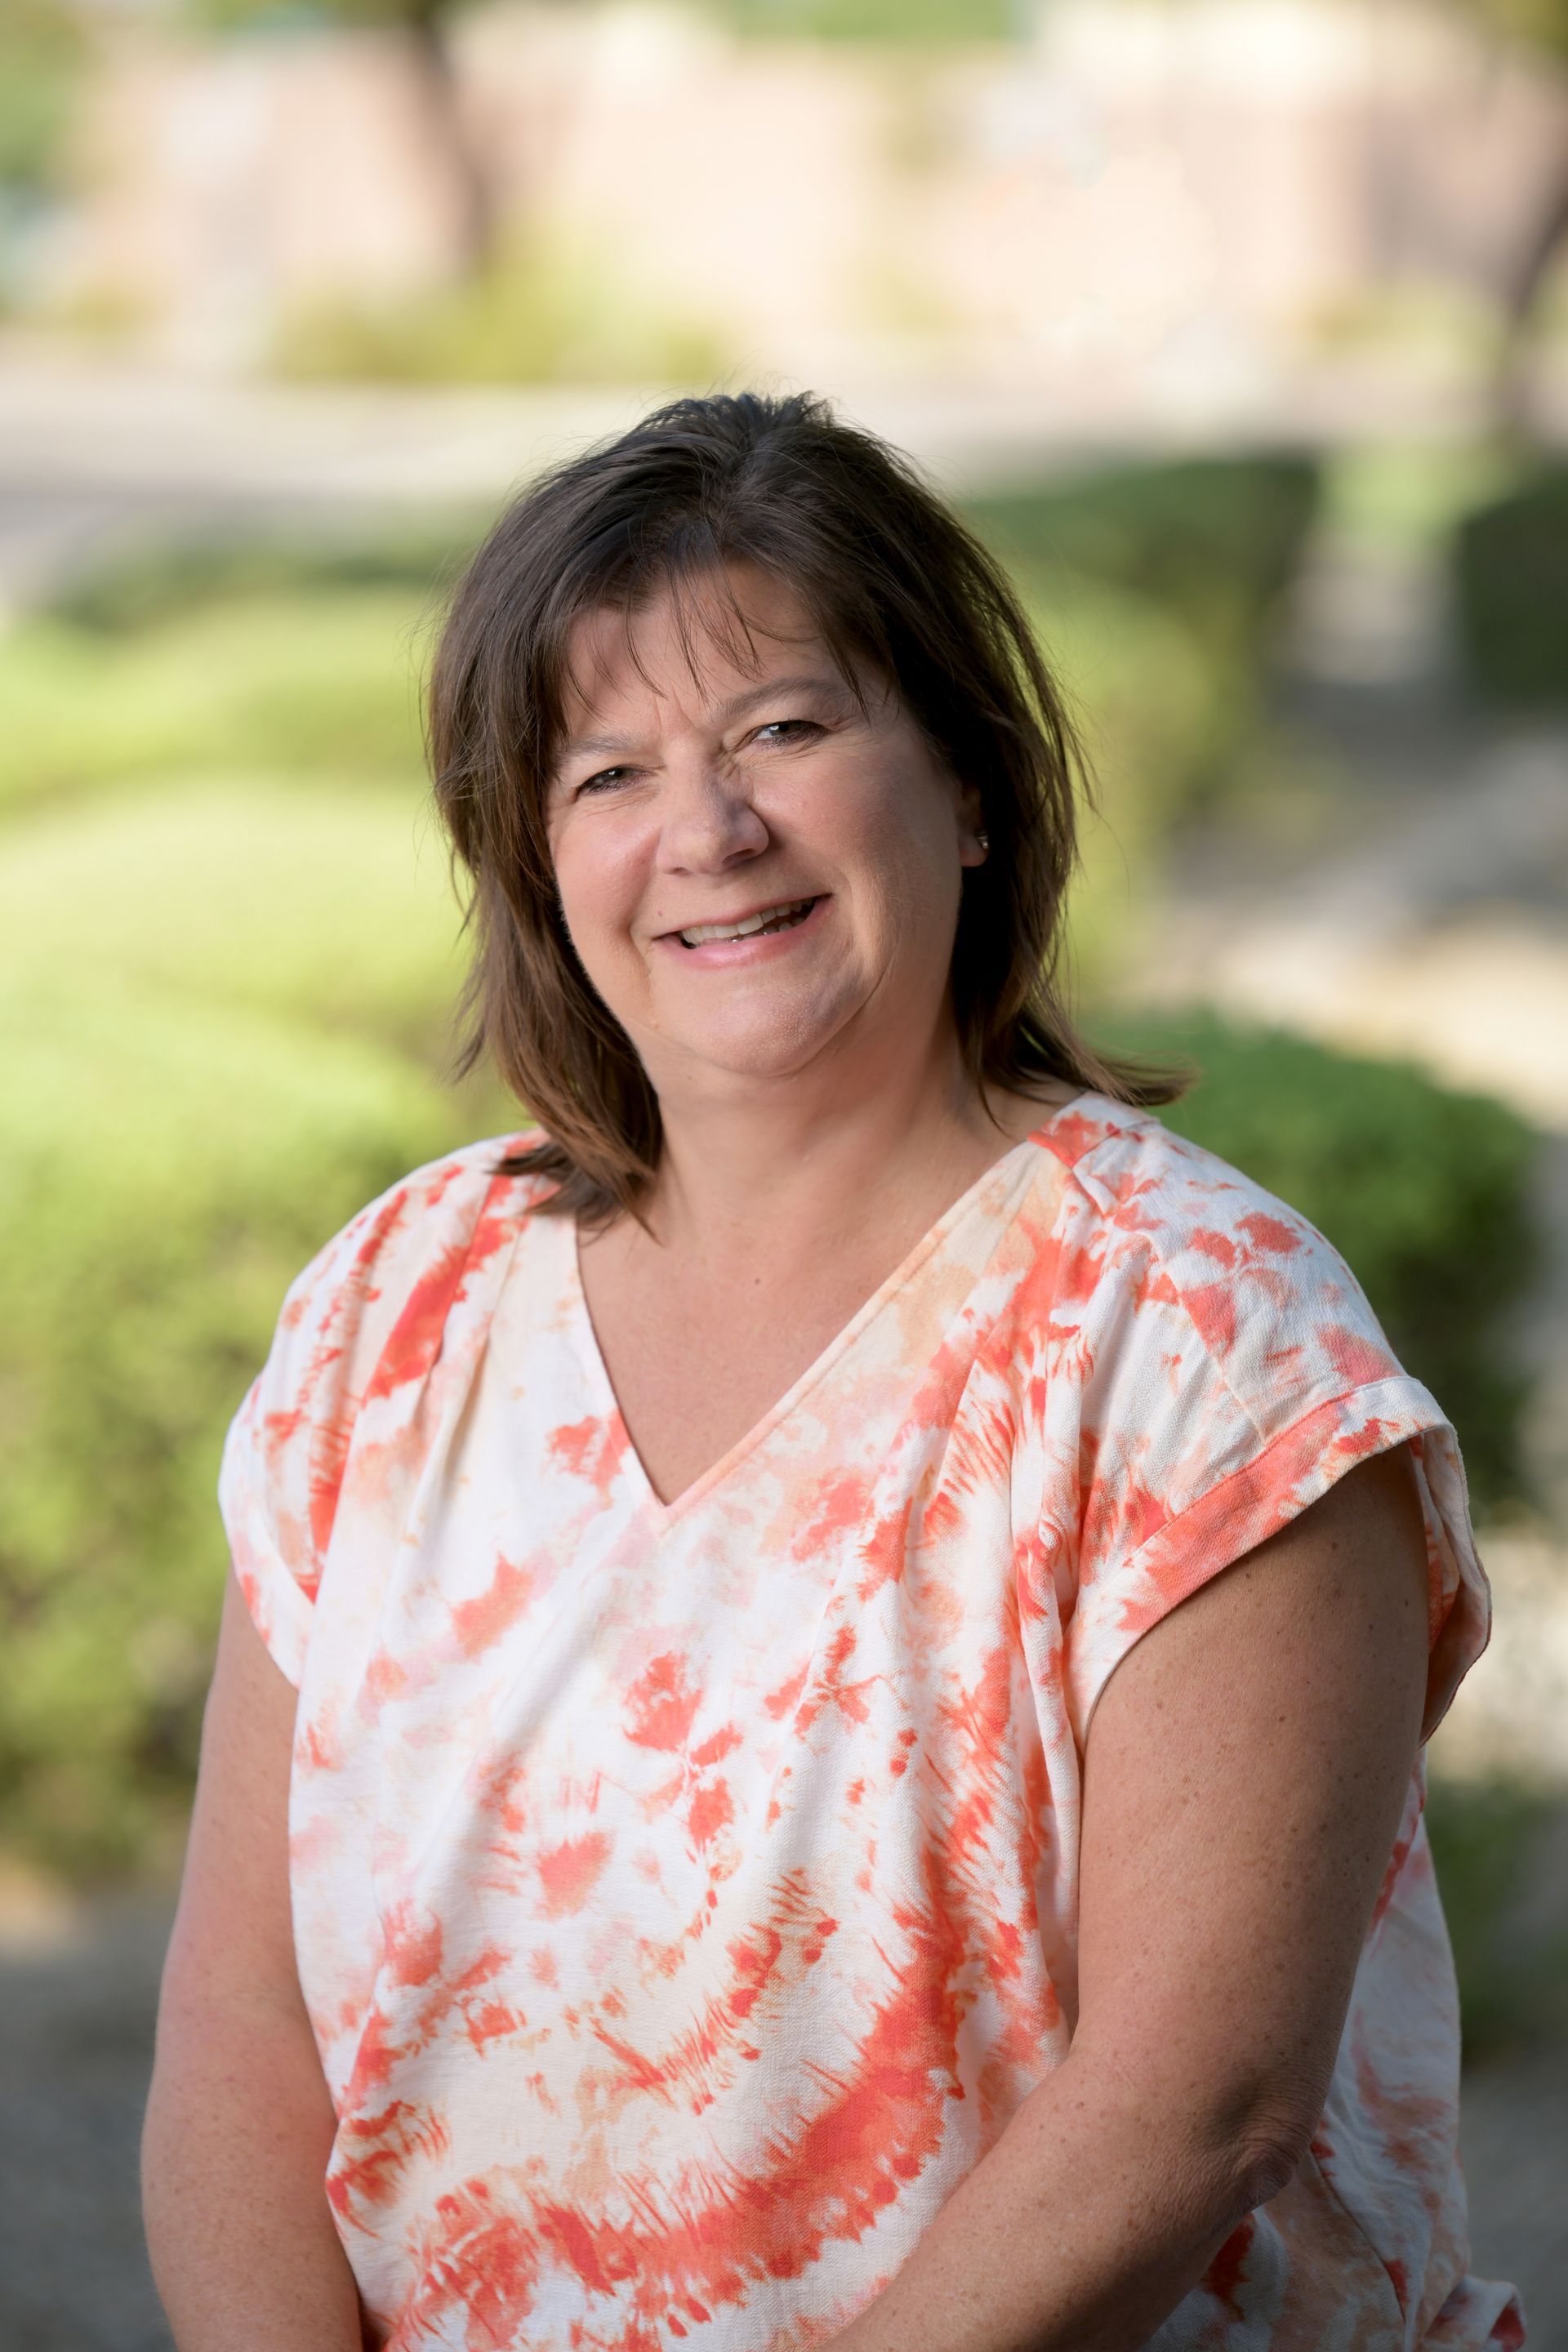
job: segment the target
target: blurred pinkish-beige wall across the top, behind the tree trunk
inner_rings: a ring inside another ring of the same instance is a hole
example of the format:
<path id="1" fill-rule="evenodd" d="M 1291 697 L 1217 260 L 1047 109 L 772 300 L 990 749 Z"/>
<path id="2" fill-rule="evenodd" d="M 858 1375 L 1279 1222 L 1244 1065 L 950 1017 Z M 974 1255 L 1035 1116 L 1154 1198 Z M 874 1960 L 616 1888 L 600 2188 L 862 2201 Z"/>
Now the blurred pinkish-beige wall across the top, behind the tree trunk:
<path id="1" fill-rule="evenodd" d="M 764 374 L 1246 367 L 1380 289 L 1495 299 L 1568 153 L 1568 75 L 1441 0 L 1044 0 L 926 54 L 498 0 L 451 54 L 496 216 Z M 181 360 L 470 254 L 393 33 L 120 35 L 75 155 L 49 296 Z"/>

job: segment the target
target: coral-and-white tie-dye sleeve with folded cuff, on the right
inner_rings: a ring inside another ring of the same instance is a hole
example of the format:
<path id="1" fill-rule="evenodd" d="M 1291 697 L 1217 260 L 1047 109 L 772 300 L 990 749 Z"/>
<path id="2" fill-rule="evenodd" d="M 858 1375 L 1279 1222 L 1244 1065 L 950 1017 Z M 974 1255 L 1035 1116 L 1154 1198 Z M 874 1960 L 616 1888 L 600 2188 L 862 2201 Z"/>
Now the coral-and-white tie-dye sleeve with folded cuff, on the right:
<path id="1" fill-rule="evenodd" d="M 1453 1425 L 1321 1232 L 1164 1129 L 1157 1160 L 1093 1171 L 1084 1202 L 1110 1230 L 1079 1345 L 1074 1731 L 1140 1635 L 1359 1461 L 1408 1444 L 1427 1529 L 1429 1738 L 1490 1623 Z"/>

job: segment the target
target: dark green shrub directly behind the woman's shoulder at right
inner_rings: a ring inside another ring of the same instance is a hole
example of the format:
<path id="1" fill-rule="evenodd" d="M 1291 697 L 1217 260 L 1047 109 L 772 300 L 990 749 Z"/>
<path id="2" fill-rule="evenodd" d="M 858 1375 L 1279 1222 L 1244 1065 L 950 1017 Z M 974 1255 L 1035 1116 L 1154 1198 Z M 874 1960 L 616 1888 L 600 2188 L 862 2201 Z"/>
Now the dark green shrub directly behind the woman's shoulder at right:
<path id="1" fill-rule="evenodd" d="M 1507 1341 L 1540 1237 L 1540 1138 L 1505 1103 L 1450 1094 L 1408 1063 L 1366 1061 L 1215 1018 L 1124 1018 L 1103 1035 L 1187 1061 L 1197 1087 L 1161 1117 L 1324 1232 L 1394 1352 L 1453 1421 L 1472 1498 L 1519 1498 L 1523 1381 Z"/>

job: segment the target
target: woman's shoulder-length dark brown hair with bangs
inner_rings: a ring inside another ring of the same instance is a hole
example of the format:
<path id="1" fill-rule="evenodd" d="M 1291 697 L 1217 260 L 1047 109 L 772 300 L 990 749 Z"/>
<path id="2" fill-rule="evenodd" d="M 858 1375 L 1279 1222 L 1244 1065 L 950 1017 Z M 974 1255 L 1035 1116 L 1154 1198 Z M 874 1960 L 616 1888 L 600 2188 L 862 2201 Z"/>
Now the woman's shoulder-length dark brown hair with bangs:
<path id="1" fill-rule="evenodd" d="M 1058 990 L 1077 863 L 1081 748 L 997 560 L 914 468 L 806 393 L 675 400 L 534 482 L 451 600 L 430 675 L 435 800 L 468 868 L 475 960 L 458 1070 L 491 1054 L 545 1138 L 527 1167 L 588 1223 L 635 1209 L 658 1164 L 658 1101 L 576 960 L 555 891 L 545 788 L 588 612 L 637 612 L 726 564 L 788 583 L 844 677 L 889 682 L 959 783 L 990 856 L 969 868 L 952 950 L 976 1084 L 1041 1080 L 1166 1103 L 1182 1080 L 1110 1061 Z M 510 1162 L 520 1167 L 522 1162 Z"/>

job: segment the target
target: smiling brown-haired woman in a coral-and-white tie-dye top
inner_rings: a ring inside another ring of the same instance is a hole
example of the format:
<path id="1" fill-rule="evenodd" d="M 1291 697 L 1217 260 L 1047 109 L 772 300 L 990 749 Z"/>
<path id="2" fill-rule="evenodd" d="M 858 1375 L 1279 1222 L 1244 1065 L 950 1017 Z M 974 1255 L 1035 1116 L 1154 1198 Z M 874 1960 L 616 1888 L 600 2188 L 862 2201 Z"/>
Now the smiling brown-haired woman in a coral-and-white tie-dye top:
<path id="1" fill-rule="evenodd" d="M 538 1127 L 329 1242 L 230 1432 L 181 2352 L 1521 2343 L 1453 1430 L 1072 1033 L 994 564 L 820 405 L 679 402 L 501 520 L 430 731 Z"/>

